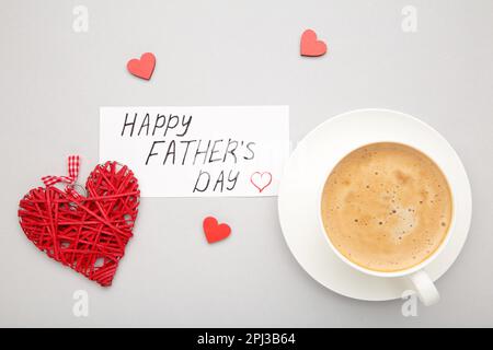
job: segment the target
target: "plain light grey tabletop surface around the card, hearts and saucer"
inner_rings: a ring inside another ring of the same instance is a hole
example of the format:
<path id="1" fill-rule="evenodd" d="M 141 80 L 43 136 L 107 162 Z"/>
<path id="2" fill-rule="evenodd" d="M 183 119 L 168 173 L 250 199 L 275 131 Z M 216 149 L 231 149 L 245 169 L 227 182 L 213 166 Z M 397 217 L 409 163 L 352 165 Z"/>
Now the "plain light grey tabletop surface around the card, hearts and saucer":
<path id="1" fill-rule="evenodd" d="M 72 9 L 89 9 L 89 32 Z M 419 32 L 401 10 L 419 10 Z M 303 59 L 314 28 L 329 55 Z M 0 11 L 0 326 L 493 326 L 493 1 L 20 1 Z M 126 61 L 157 56 L 151 81 Z M 102 289 L 24 237 L 19 199 L 39 177 L 98 162 L 99 107 L 290 106 L 291 139 L 364 107 L 415 115 L 454 145 L 469 173 L 473 221 L 463 254 L 437 282 L 443 301 L 401 315 L 325 290 L 297 265 L 275 198 L 148 199 L 114 284 Z M 214 246 L 200 225 L 233 230 Z M 72 314 L 85 290 L 90 315 Z"/>

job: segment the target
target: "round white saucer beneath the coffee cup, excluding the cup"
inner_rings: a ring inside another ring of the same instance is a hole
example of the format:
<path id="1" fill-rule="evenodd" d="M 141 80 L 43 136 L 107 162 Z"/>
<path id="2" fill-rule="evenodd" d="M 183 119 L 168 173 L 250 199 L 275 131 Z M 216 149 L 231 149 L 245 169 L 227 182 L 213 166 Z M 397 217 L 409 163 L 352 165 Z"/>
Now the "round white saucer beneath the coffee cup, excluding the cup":
<path id="1" fill-rule="evenodd" d="M 287 162 L 278 194 L 283 234 L 301 267 L 325 288 L 366 301 L 400 299 L 410 289 L 408 280 L 367 276 L 335 256 L 319 225 L 319 190 L 328 172 L 344 155 L 383 140 L 422 150 L 435 160 L 454 185 L 455 232 L 449 233 L 445 249 L 426 267 L 431 278 L 437 280 L 454 264 L 466 243 L 472 200 L 459 156 L 444 137 L 423 121 L 386 109 L 354 110 L 331 118 L 299 142 Z"/>

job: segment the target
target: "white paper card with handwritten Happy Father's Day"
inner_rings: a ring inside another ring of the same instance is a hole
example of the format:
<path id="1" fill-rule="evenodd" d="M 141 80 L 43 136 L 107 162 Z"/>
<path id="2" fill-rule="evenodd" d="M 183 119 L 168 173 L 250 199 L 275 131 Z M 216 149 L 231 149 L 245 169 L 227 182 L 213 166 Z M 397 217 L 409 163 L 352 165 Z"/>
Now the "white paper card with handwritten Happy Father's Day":
<path id="1" fill-rule="evenodd" d="M 142 197 L 276 196 L 289 107 L 101 107 L 100 161 L 128 165 Z"/>

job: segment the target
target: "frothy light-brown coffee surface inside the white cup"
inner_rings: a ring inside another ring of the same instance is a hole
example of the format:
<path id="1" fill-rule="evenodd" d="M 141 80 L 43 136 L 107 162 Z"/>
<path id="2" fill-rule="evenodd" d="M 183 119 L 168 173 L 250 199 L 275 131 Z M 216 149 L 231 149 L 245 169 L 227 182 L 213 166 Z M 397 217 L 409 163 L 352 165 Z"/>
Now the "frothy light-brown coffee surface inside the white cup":
<path id="1" fill-rule="evenodd" d="M 400 143 L 374 143 L 346 155 L 325 182 L 322 221 L 332 244 L 364 268 L 393 272 L 426 260 L 452 215 L 438 166 Z"/>

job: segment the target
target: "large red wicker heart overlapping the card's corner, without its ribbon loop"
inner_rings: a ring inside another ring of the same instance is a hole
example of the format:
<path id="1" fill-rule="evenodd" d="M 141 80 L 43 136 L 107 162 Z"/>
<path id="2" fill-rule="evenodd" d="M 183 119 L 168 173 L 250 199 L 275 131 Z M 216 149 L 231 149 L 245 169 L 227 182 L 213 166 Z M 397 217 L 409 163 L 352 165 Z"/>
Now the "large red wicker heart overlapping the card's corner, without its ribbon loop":
<path id="1" fill-rule="evenodd" d="M 127 166 L 106 162 L 92 171 L 85 189 L 87 197 L 53 186 L 34 188 L 21 199 L 19 219 L 39 250 L 108 287 L 133 236 L 138 182 Z"/>

